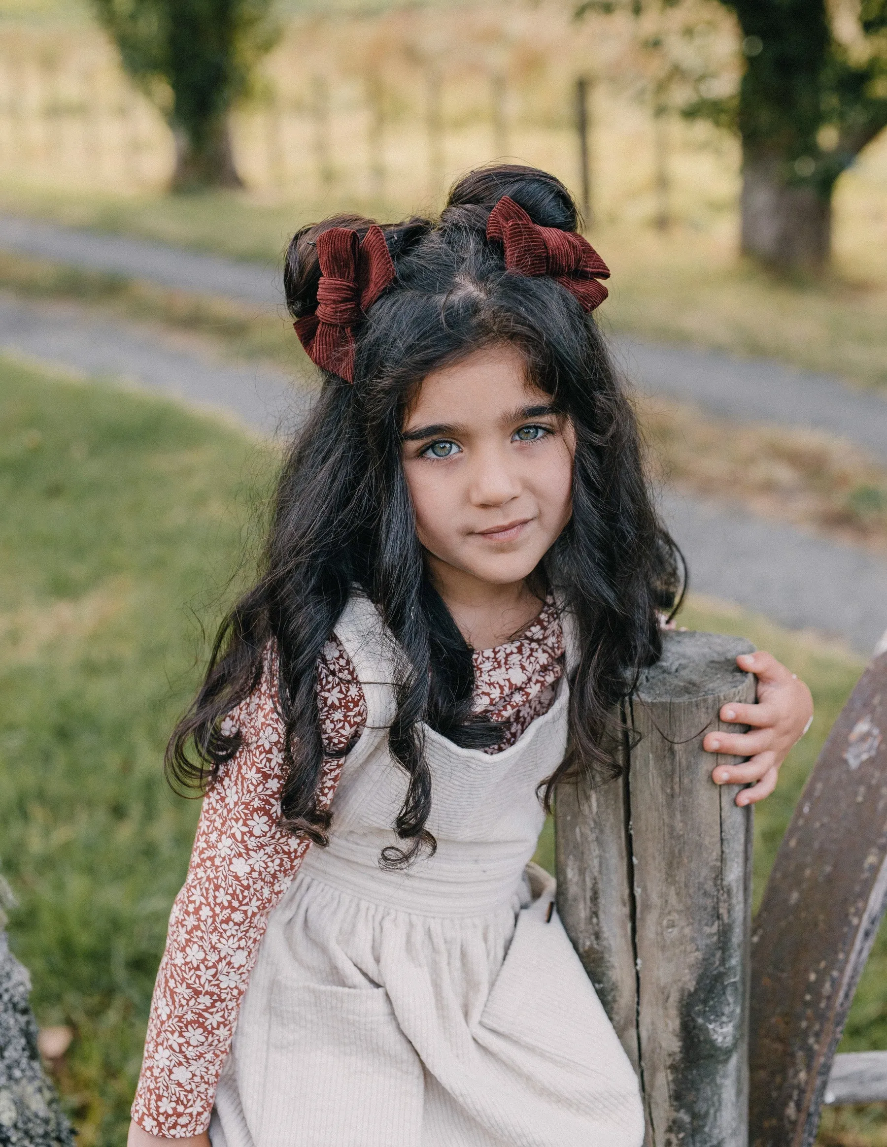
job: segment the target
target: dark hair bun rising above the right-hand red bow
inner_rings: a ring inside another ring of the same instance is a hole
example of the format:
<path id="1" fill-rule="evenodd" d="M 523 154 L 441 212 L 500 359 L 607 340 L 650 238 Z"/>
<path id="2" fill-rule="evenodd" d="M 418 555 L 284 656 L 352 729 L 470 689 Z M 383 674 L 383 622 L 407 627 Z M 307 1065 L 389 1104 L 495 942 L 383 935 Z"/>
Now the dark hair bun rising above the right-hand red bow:
<path id="1" fill-rule="evenodd" d="M 500 163 L 469 172 L 450 192 L 443 217 L 454 213 L 453 208 L 475 208 L 489 214 L 505 195 L 542 227 L 574 232 L 578 228 L 579 213 L 563 184 L 546 171 L 516 163 Z M 462 211 L 459 213 L 462 214 Z M 485 220 L 485 214 L 483 218 Z"/>

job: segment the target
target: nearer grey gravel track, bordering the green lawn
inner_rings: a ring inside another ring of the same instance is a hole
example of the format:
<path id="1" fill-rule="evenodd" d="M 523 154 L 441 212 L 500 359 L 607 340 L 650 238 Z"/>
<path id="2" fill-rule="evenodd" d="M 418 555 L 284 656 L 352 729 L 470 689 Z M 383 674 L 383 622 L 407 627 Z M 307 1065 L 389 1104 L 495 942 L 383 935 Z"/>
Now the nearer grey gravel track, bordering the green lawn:
<path id="1" fill-rule="evenodd" d="M 203 258 L 174 252 L 174 259 L 192 267 L 192 260 Z M 285 432 L 310 403 L 306 391 L 283 372 L 217 359 L 187 340 L 98 319 L 72 303 L 37 304 L 0 296 L 0 350 L 87 376 L 162 390 L 234 413 L 264 434 Z M 637 344 L 622 353 L 637 354 Z M 848 397 L 843 388 L 840 393 Z M 748 416 L 746 411 L 733 413 Z M 683 494 L 669 494 L 663 510 L 687 556 L 695 590 L 736 601 L 788 627 L 842 637 L 863 654 L 887 626 L 887 561 Z"/>

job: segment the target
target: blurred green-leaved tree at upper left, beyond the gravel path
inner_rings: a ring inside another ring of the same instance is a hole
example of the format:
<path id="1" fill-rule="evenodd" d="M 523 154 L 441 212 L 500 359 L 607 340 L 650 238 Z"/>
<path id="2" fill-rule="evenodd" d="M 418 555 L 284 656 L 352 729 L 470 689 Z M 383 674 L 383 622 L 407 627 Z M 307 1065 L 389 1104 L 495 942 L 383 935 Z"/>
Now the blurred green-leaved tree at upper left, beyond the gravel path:
<path id="1" fill-rule="evenodd" d="M 173 190 L 241 187 L 228 114 L 278 39 L 273 0 L 93 0 L 176 138 Z"/>

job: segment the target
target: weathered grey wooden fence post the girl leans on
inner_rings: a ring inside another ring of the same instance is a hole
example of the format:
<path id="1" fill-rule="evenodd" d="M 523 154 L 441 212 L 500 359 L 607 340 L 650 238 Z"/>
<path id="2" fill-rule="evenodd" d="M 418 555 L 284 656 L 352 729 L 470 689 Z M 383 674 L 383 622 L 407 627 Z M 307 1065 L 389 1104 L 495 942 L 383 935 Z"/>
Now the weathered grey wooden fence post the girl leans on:
<path id="1" fill-rule="evenodd" d="M 754 701 L 750 649 L 666 634 L 627 707 L 622 778 L 558 791 L 558 908 L 638 1071 L 648 1147 L 748 1141 L 752 810 L 714 783 L 702 736 Z"/>

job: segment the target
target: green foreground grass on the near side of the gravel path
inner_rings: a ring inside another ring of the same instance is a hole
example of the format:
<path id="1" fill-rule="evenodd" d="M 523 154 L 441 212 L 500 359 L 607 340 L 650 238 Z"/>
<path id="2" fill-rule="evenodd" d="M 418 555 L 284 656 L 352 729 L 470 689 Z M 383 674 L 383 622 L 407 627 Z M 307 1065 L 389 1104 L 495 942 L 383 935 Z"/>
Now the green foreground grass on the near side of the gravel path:
<path id="1" fill-rule="evenodd" d="M 81 1147 L 118 1147 L 169 907 L 196 804 L 161 778 L 231 579 L 248 576 L 274 468 L 236 429 L 153 397 L 0 361 L 0 864 L 42 1024 L 76 1038 L 60 1072 Z M 811 733 L 756 818 L 758 889 L 859 661 L 694 600 L 684 624 L 748 635 L 810 682 Z M 887 944 L 847 1046 L 887 1047 Z M 830 1142 L 880 1142 L 841 1115 Z M 834 1124 L 835 1118 L 830 1114 Z M 850 1138 L 847 1138 L 850 1136 Z"/>

